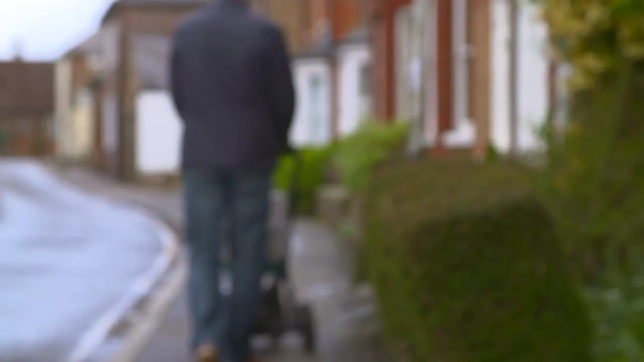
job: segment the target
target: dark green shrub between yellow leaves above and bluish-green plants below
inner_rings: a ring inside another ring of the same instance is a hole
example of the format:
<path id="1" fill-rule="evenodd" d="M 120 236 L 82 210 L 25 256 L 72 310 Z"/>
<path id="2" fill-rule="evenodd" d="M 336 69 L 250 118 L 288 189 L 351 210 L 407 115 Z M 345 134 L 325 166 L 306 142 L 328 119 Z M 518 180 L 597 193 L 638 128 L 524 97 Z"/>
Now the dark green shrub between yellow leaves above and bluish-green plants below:
<path id="1" fill-rule="evenodd" d="M 571 258 L 593 282 L 628 273 L 644 257 L 642 92 L 644 65 L 624 64 L 600 87 L 571 97 L 565 135 L 549 145 L 544 195 Z"/>

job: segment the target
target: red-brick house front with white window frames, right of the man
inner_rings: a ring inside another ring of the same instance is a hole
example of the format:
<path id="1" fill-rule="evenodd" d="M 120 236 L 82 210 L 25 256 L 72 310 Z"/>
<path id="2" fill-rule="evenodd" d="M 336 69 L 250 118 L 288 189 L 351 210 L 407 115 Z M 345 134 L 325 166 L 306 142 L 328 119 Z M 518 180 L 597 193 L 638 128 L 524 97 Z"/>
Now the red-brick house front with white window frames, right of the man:
<path id="1" fill-rule="evenodd" d="M 417 97 L 422 104 L 417 122 L 432 151 L 466 149 L 480 156 L 489 144 L 507 149 L 511 137 L 535 147 L 533 128 L 547 113 L 551 77 L 544 26 L 534 13 L 529 5 L 510 14 L 507 0 L 372 2 L 376 117 L 406 118 L 413 113 L 406 99 Z M 516 31 L 509 24 L 513 15 L 520 18 Z M 421 23 L 421 32 L 406 31 L 413 22 Z M 414 37 L 420 37 L 421 54 L 406 49 Z M 512 39 L 523 42 L 518 54 L 508 48 Z M 513 57 L 518 68 L 511 66 Z M 412 71 L 415 62 L 421 71 Z M 410 91 L 414 78 L 422 85 Z M 511 122 L 520 123 L 518 135 L 509 136 Z"/>

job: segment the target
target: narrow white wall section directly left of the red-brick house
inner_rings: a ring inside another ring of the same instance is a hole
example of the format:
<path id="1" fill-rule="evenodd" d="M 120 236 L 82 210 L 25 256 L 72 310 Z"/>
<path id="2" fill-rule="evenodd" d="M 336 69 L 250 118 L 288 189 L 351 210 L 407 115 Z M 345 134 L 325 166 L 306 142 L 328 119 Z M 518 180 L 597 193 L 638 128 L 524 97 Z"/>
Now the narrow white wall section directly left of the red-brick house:
<path id="1" fill-rule="evenodd" d="M 346 135 L 354 131 L 361 121 L 360 75 L 371 61 L 371 52 L 366 44 L 343 46 L 338 53 L 339 64 L 339 131 Z"/>

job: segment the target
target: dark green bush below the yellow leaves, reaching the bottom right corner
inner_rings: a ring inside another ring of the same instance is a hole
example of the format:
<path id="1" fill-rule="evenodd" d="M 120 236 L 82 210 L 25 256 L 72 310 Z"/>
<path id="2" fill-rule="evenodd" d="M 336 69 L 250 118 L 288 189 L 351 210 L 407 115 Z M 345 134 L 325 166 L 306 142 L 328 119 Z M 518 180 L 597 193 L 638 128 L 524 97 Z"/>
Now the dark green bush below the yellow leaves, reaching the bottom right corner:
<path id="1" fill-rule="evenodd" d="M 541 185 L 587 283 L 598 361 L 644 360 L 644 64 L 623 62 L 571 94 Z"/>

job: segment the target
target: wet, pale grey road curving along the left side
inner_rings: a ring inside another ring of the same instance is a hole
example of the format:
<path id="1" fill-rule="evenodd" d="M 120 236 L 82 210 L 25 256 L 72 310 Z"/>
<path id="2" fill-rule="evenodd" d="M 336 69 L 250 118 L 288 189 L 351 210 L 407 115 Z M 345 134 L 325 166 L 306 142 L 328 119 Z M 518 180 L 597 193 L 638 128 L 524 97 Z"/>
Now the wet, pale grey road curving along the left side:
<path id="1" fill-rule="evenodd" d="M 0 160 L 0 361 L 69 361 L 159 252 L 136 211 Z"/>

